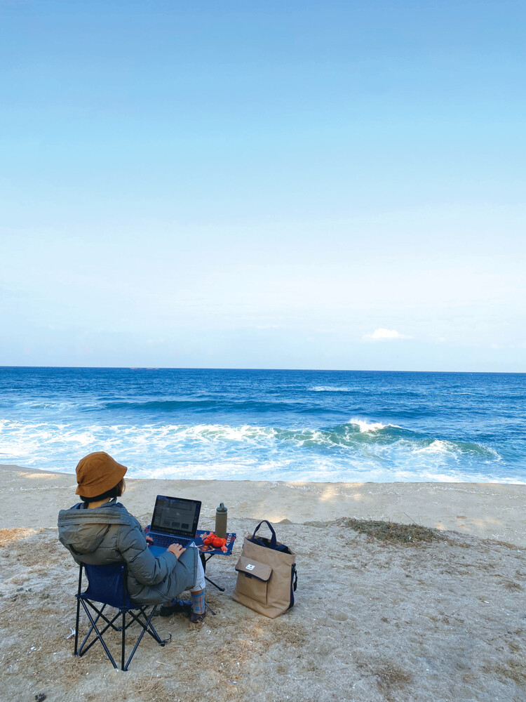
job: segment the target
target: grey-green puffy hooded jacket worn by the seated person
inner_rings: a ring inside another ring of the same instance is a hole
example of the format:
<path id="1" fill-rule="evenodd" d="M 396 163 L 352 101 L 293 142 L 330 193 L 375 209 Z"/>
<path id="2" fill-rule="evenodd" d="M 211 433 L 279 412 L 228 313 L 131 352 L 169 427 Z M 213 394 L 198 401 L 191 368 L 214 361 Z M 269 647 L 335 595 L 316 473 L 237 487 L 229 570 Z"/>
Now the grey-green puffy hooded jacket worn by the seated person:
<path id="1" fill-rule="evenodd" d="M 79 564 L 125 562 L 135 602 L 168 602 L 196 582 L 198 550 L 187 548 L 178 560 L 168 551 L 152 555 L 139 522 L 115 499 L 93 509 L 79 503 L 60 510 L 58 538 Z"/>

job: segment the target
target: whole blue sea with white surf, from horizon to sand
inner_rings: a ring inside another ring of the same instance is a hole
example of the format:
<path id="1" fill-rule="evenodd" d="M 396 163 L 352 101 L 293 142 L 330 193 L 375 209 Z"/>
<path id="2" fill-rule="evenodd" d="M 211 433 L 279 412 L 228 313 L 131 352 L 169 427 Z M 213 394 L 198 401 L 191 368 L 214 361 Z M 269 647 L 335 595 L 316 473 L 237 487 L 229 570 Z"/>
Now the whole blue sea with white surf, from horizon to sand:
<path id="1" fill-rule="evenodd" d="M 0 368 L 0 463 L 130 477 L 526 484 L 526 375 Z"/>

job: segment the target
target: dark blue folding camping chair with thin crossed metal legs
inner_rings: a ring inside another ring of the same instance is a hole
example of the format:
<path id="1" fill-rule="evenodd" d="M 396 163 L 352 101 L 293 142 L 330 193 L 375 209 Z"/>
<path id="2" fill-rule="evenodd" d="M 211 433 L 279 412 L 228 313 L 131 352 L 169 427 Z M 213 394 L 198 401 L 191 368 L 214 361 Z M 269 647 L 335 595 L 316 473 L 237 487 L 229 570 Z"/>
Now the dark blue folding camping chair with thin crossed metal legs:
<path id="1" fill-rule="evenodd" d="M 86 570 L 88 576 L 88 588 L 82 592 L 82 571 Z M 96 602 L 99 606 L 97 607 Z M 80 609 L 84 608 L 86 615 L 90 621 L 90 628 L 79 648 L 79 616 Z M 102 604 L 102 607 L 100 607 Z M 115 607 L 116 614 L 104 614 L 106 607 Z M 76 627 L 75 627 L 75 656 L 83 656 L 95 642 L 100 641 L 104 651 L 112 662 L 113 667 L 117 668 L 112 654 L 109 652 L 103 635 L 108 629 L 121 632 L 121 670 L 128 670 L 128 665 L 137 651 L 142 637 L 145 633 L 156 640 L 160 646 L 164 646 L 171 639 L 162 640 L 159 634 L 151 624 L 151 618 L 154 616 L 157 605 L 154 605 L 151 612 L 147 614 L 147 609 L 151 607 L 148 604 L 135 604 L 130 600 L 128 590 L 126 589 L 126 565 L 123 563 L 110 564 L 107 566 L 92 566 L 81 564 L 79 569 L 79 590 L 76 594 Z M 93 612 L 92 612 L 93 611 Z M 96 613 L 94 616 L 93 613 Z M 126 615 L 130 616 L 126 622 Z M 116 625 L 116 621 L 121 617 L 121 625 Z M 142 619 L 144 618 L 144 621 Z M 101 623 L 98 623 L 102 619 Z M 131 652 L 128 661 L 125 664 L 125 647 L 126 647 L 126 630 L 133 622 L 137 622 L 142 628 L 140 636 L 135 642 L 133 651 Z M 98 623 L 98 625 L 97 625 Z M 104 628 L 100 628 L 101 624 L 105 623 Z M 88 639 L 92 633 L 95 633 L 95 638 L 88 644 Z"/>

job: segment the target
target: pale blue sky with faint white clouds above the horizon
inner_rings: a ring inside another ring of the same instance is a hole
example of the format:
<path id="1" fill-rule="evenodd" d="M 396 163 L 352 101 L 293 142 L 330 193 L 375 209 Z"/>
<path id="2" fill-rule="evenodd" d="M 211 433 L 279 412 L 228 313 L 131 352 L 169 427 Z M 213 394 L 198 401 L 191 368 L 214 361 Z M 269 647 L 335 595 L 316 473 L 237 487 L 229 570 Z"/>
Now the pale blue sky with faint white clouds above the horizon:
<path id="1" fill-rule="evenodd" d="M 0 0 L 0 365 L 526 372 L 525 20 Z"/>

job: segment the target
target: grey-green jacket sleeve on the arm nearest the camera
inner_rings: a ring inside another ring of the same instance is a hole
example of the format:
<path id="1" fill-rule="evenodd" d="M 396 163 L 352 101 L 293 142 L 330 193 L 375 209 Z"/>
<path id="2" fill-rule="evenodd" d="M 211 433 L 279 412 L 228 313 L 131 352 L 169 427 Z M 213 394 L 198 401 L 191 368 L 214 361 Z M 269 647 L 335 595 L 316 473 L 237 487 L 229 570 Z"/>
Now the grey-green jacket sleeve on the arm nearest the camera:
<path id="1" fill-rule="evenodd" d="M 177 558 L 166 551 L 154 556 L 149 551 L 140 526 L 130 526 L 119 532 L 117 550 L 126 561 L 128 571 L 143 585 L 157 585 L 177 566 Z"/>

